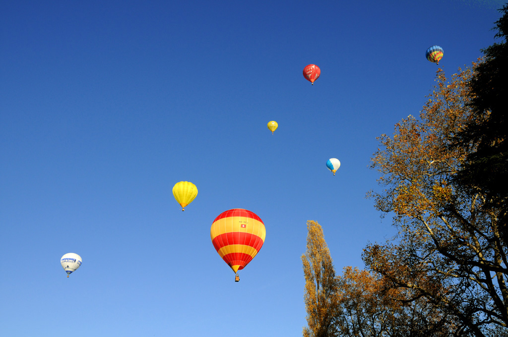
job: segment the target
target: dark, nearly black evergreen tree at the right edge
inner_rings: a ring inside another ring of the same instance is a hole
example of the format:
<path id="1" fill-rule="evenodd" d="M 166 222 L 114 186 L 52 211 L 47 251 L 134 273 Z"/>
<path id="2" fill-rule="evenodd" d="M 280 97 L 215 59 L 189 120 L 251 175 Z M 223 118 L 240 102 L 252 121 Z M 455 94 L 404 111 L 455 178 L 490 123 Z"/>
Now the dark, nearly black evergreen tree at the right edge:
<path id="1" fill-rule="evenodd" d="M 500 43 L 483 50 L 484 61 L 469 81 L 471 120 L 456 134 L 455 147 L 471 151 L 454 178 L 471 194 L 484 193 L 485 208 L 497 208 L 504 245 L 508 245 L 508 4 L 496 21 Z"/>

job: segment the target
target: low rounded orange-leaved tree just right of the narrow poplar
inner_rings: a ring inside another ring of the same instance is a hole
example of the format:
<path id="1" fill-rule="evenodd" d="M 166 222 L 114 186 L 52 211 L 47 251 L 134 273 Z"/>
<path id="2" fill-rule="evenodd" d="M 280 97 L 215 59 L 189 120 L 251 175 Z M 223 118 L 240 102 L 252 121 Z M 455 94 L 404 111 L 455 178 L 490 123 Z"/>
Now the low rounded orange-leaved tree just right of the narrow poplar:
<path id="1" fill-rule="evenodd" d="M 454 330 L 439 308 L 377 273 L 345 267 L 337 295 L 337 326 L 344 337 L 447 337 Z"/>

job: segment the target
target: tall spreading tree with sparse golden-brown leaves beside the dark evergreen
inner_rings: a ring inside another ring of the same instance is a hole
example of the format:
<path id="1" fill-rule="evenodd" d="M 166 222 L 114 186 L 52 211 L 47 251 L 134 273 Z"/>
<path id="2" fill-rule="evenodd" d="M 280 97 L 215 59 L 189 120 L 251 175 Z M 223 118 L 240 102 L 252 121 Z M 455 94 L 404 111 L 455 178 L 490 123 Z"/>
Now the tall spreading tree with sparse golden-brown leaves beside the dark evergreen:
<path id="1" fill-rule="evenodd" d="M 471 149 L 450 146 L 473 118 L 468 82 L 476 67 L 450 81 L 438 70 L 420 118 L 409 116 L 393 136 L 379 138 L 372 167 L 385 188 L 371 195 L 378 210 L 394 215 L 398 235 L 369 245 L 363 258 L 394 287 L 453 317 L 454 335 L 484 337 L 507 331 L 507 251 L 498 211 L 483 207 L 485 194 L 453 183 Z"/>

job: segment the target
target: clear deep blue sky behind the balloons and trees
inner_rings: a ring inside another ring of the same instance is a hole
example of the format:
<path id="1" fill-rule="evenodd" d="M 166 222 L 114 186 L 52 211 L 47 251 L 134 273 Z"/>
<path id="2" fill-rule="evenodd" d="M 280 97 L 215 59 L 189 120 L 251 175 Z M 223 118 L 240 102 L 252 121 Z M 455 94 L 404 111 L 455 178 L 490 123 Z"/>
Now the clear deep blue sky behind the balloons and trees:
<path id="1" fill-rule="evenodd" d="M 301 335 L 306 221 L 338 273 L 391 237 L 365 198 L 376 137 L 425 103 L 425 50 L 469 65 L 502 4 L 3 2 L 0 335 Z M 267 231 L 239 283 L 210 241 L 232 208 Z"/>

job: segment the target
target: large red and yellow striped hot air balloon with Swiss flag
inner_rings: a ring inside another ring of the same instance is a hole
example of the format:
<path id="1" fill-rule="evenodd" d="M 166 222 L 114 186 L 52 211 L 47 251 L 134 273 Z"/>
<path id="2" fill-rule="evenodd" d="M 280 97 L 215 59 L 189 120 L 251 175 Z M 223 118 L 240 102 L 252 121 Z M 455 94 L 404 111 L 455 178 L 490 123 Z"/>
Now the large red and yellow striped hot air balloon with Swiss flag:
<path id="1" fill-rule="evenodd" d="M 235 208 L 220 213 L 210 228 L 212 244 L 220 257 L 235 272 L 243 269 L 258 254 L 265 242 L 263 220 L 255 213 Z"/>

